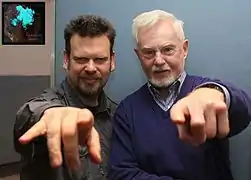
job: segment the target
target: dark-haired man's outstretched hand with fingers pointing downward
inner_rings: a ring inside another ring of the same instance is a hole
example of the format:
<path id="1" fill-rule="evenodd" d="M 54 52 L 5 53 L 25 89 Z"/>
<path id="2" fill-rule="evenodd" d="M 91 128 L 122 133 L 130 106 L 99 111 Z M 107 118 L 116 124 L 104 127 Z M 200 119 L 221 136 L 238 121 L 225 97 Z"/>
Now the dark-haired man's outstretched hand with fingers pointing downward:
<path id="1" fill-rule="evenodd" d="M 27 144 L 38 136 L 47 137 L 50 163 L 52 167 L 62 164 L 61 141 L 68 166 L 77 169 L 80 165 L 78 145 L 86 145 L 91 159 L 101 162 L 99 135 L 93 127 L 94 117 L 87 109 L 55 107 L 31 127 L 19 141 Z"/>

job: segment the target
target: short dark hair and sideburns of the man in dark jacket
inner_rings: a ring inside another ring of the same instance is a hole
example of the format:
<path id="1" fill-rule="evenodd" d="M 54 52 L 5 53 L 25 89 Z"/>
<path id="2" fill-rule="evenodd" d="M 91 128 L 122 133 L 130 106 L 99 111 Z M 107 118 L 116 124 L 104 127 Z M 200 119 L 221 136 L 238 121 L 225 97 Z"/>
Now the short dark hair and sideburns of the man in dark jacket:
<path id="1" fill-rule="evenodd" d="M 65 52 L 69 55 L 71 51 L 70 40 L 74 34 L 81 37 L 98 37 L 106 35 L 110 41 L 110 50 L 113 51 L 116 30 L 105 18 L 97 15 L 82 15 L 72 19 L 64 30 Z"/>

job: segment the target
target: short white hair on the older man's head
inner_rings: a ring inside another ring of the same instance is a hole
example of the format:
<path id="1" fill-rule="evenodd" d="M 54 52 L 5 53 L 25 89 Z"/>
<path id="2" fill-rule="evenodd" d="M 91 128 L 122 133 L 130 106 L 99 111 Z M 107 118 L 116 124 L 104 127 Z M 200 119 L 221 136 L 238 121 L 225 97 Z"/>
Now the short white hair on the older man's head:
<path id="1" fill-rule="evenodd" d="M 184 22 L 177 19 L 172 13 L 163 11 L 163 10 L 153 10 L 139 14 L 133 19 L 132 24 L 132 35 L 138 42 L 138 32 L 141 27 L 150 27 L 153 26 L 156 22 L 162 19 L 168 19 L 173 21 L 173 27 L 176 31 L 176 34 L 179 39 L 184 40 L 185 34 L 183 30 Z"/>

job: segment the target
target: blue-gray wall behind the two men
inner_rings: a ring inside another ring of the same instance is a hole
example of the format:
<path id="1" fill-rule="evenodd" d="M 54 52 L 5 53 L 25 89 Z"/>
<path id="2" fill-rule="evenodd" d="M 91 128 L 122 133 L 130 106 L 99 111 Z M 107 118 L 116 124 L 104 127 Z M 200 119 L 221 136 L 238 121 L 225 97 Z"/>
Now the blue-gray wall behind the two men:
<path id="1" fill-rule="evenodd" d="M 115 25 L 117 71 L 110 79 L 107 92 L 116 101 L 137 89 L 145 77 L 133 52 L 131 23 L 135 14 L 153 9 L 173 12 L 185 21 L 190 40 L 188 73 L 218 77 L 247 90 L 251 95 L 251 1 L 250 0 L 68 0 L 56 5 L 56 82 L 62 71 L 63 29 L 79 14 L 102 15 Z M 133 81 L 132 81 L 133 80 Z M 233 172 L 237 180 L 251 179 L 251 130 L 231 140 Z"/>

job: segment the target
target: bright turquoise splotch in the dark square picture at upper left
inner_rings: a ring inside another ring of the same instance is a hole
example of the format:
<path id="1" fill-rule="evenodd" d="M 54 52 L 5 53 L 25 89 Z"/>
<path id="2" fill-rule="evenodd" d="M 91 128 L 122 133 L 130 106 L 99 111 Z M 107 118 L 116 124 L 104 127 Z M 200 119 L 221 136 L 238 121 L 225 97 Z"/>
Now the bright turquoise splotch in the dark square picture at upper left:
<path id="1" fill-rule="evenodd" d="M 28 25 L 32 25 L 34 22 L 34 14 L 35 11 L 31 8 L 23 8 L 22 6 L 18 5 L 16 6 L 16 10 L 18 12 L 17 17 L 11 19 L 11 24 L 13 26 L 17 26 L 18 23 L 22 24 L 22 27 L 24 29 L 27 29 Z"/>

